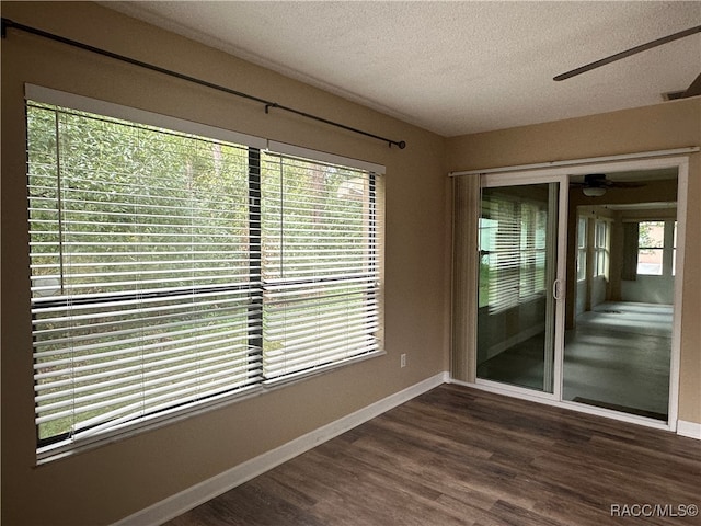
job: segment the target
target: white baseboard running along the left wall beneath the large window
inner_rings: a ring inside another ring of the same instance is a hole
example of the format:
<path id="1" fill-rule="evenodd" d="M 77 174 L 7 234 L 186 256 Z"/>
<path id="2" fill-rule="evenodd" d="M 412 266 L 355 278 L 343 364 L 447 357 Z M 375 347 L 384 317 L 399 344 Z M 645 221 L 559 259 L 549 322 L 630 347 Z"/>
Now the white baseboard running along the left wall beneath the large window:
<path id="1" fill-rule="evenodd" d="M 114 523 L 113 526 L 157 526 L 279 466 L 298 455 L 356 427 L 412 398 L 449 381 L 448 373 L 432 376 L 275 449 L 246 460 L 223 473 Z"/>

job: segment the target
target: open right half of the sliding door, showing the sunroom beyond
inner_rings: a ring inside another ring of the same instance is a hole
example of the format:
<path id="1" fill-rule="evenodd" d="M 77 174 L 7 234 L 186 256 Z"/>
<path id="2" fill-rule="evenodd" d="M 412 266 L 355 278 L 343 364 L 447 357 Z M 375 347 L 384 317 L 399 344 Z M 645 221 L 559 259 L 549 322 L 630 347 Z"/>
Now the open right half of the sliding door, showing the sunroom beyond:
<path id="1" fill-rule="evenodd" d="M 677 169 L 572 178 L 562 399 L 666 422 Z"/>

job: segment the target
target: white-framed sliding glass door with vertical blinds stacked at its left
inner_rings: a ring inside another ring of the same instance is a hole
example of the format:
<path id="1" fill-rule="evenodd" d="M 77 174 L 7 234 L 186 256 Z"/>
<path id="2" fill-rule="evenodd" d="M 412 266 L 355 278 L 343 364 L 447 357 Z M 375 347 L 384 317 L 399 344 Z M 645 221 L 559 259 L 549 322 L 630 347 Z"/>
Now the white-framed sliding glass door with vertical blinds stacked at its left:
<path id="1" fill-rule="evenodd" d="M 452 378 L 674 431 L 688 159 L 452 175 Z"/>

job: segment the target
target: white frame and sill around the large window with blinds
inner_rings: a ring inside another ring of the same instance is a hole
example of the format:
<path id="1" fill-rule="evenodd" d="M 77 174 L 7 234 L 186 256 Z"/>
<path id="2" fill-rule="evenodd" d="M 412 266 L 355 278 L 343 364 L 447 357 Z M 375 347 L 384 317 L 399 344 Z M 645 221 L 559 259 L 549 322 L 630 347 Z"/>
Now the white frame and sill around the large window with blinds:
<path id="1" fill-rule="evenodd" d="M 88 436 L 85 438 L 72 439 L 60 437 L 59 439 L 44 441 L 39 443 L 38 439 L 38 425 L 37 425 L 37 458 L 39 461 L 47 461 L 56 457 L 69 454 L 71 451 L 80 450 L 83 447 L 90 447 L 92 444 L 102 442 L 112 442 L 117 437 L 129 436 L 135 433 L 140 433 L 143 430 L 151 428 L 153 426 L 169 423 L 173 420 L 180 420 L 187 418 L 191 414 L 196 414 L 203 411 L 210 410 L 222 403 L 230 403 L 231 401 L 245 399 L 248 396 L 265 391 L 271 388 L 277 388 L 279 385 L 286 385 L 289 381 L 295 381 L 301 378 L 309 377 L 329 369 L 341 367 L 349 363 L 364 361 L 375 356 L 384 354 L 383 351 L 383 320 L 381 312 L 383 311 L 382 304 L 382 289 L 383 289 L 383 192 L 381 190 L 381 183 L 383 182 L 382 175 L 384 174 L 384 167 L 370 163 L 367 161 L 360 161 L 341 156 L 319 152 L 307 148 L 296 147 L 292 145 L 284 145 L 280 142 L 273 142 L 266 139 L 261 139 L 235 132 L 229 132 L 221 128 L 211 127 L 208 125 L 200 125 L 187 121 L 182 121 L 176 117 L 170 117 L 164 115 L 152 114 L 141 110 L 129 108 L 122 105 L 107 103 L 104 101 L 96 101 L 81 95 L 73 95 L 69 93 L 58 92 L 42 87 L 35 87 L 32 84 L 25 85 L 25 98 L 27 103 L 30 101 L 36 101 L 41 104 L 49 104 L 60 107 L 67 107 L 76 110 L 78 112 L 93 113 L 105 117 L 117 118 L 120 121 L 143 124 L 147 126 L 157 126 L 164 130 L 175 129 L 185 134 L 193 134 L 197 136 L 204 136 L 216 140 L 225 140 L 227 142 L 234 142 L 248 147 L 249 150 L 249 225 L 251 231 L 258 232 L 258 235 L 251 236 L 252 251 L 257 251 L 261 254 L 262 239 L 261 232 L 261 155 L 267 151 L 271 146 L 276 147 L 277 155 L 290 155 L 304 156 L 304 159 L 310 162 L 332 163 L 340 164 L 345 168 L 353 168 L 355 170 L 367 173 L 371 183 L 371 192 L 368 197 L 368 207 L 371 208 L 369 230 L 372 232 L 372 240 L 369 241 L 370 250 L 368 258 L 371 260 L 369 266 L 374 268 L 376 273 L 377 295 L 376 301 L 378 302 L 377 311 L 379 316 L 379 329 L 377 330 L 378 348 L 353 357 L 352 359 L 340 361 L 338 363 L 332 363 L 327 367 L 318 367 L 310 370 L 301 371 L 295 375 L 285 375 L 280 378 L 273 380 L 260 381 L 256 385 L 246 389 L 241 389 L 238 392 L 226 392 L 221 396 L 212 397 L 207 401 L 199 401 L 194 404 L 185 404 L 185 407 L 172 407 L 159 414 L 137 419 L 136 423 L 128 425 L 117 425 L 114 430 L 97 434 L 95 436 Z M 212 137 L 214 136 L 214 137 Z M 281 150 L 281 151 L 279 151 Z M 28 155 L 28 153 L 27 153 Z M 257 167 L 256 167 L 257 164 Z M 27 159 L 28 169 L 28 159 Z M 256 249 L 257 247 L 257 249 Z M 262 283 L 263 279 L 260 275 L 261 265 L 257 266 L 257 279 Z M 252 277 L 254 281 L 256 276 Z M 258 312 L 251 312 L 249 316 L 262 317 L 262 309 Z M 33 316 L 34 319 L 34 316 Z M 256 323 L 260 320 L 256 320 Z M 263 323 L 257 323 L 261 327 L 260 333 L 250 333 L 250 344 L 261 347 L 263 341 Z M 36 402 L 35 402 L 36 405 Z"/>

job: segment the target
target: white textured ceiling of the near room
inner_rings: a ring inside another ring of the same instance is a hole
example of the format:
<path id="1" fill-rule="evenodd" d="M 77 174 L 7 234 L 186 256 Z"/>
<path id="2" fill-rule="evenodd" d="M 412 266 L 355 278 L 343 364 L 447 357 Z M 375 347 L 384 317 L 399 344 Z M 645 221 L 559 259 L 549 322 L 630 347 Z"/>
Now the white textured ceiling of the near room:
<path id="1" fill-rule="evenodd" d="M 657 104 L 701 72 L 696 34 L 552 80 L 701 25 L 699 1 L 103 5 L 446 137 Z"/>

